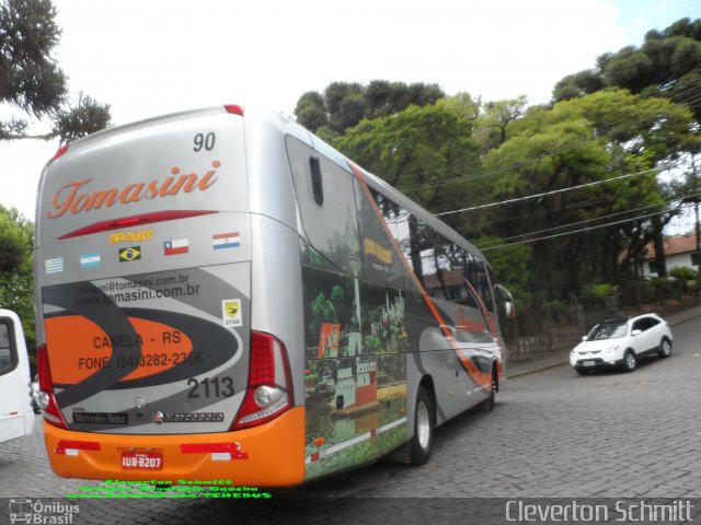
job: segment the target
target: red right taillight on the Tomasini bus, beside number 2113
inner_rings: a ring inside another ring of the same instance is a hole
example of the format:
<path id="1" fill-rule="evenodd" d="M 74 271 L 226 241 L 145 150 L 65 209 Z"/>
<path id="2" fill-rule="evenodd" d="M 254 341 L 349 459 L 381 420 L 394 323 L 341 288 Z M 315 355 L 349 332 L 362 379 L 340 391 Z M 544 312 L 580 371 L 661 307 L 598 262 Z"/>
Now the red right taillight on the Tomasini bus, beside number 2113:
<path id="1" fill-rule="evenodd" d="M 265 423 L 294 405 L 285 345 L 275 336 L 251 332 L 249 387 L 231 430 Z"/>

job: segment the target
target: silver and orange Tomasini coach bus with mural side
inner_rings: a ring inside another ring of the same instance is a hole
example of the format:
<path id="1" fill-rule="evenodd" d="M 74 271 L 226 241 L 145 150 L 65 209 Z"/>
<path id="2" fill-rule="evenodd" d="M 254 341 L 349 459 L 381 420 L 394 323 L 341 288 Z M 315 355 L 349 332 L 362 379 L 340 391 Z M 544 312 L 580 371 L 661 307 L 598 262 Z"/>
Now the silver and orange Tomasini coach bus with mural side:
<path id="1" fill-rule="evenodd" d="M 62 477 L 295 486 L 506 378 L 484 257 L 296 122 L 228 105 L 61 148 L 38 187 L 37 360 Z"/>

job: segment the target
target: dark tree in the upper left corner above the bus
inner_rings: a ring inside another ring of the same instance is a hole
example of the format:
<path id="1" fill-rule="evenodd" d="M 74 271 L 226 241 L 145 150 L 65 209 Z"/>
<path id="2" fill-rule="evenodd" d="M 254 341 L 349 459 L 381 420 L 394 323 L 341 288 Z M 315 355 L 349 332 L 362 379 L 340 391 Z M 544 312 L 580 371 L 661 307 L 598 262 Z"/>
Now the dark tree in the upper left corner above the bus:
<path id="1" fill-rule="evenodd" d="M 0 3 L 0 105 L 13 115 L 0 121 L 0 140 L 59 138 L 69 142 L 110 124 L 110 106 L 80 93 L 68 97 L 68 79 L 53 58 L 60 37 L 50 0 L 4 0 Z M 50 130 L 30 131 L 26 116 L 50 120 Z"/>

